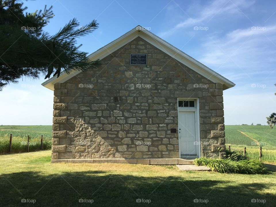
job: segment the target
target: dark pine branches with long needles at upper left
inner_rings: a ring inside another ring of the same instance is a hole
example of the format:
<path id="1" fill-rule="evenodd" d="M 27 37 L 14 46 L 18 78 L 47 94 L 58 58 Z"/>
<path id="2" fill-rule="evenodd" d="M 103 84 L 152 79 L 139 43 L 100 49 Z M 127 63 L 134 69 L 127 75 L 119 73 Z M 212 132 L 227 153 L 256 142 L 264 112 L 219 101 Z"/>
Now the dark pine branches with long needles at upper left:
<path id="1" fill-rule="evenodd" d="M 33 13 L 19 0 L 0 0 L 0 91 L 9 83 L 17 83 L 25 76 L 45 79 L 59 77 L 61 70 L 97 68 L 99 60 L 90 61 L 79 50 L 76 38 L 93 32 L 98 23 L 93 20 L 80 27 L 74 18 L 56 34 L 50 36 L 43 28 L 53 18 L 52 6 Z"/>

